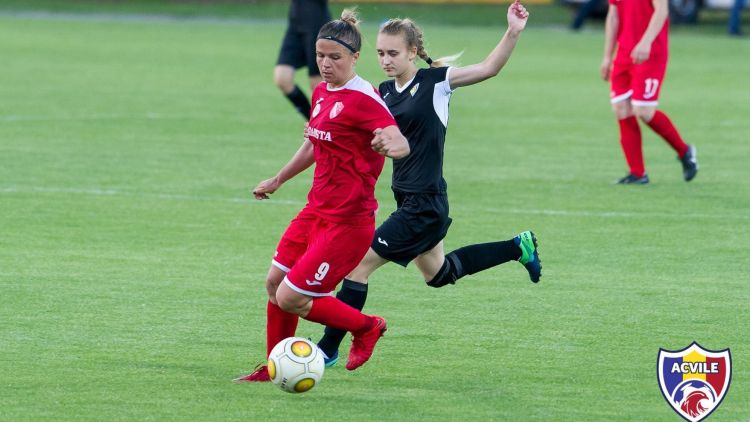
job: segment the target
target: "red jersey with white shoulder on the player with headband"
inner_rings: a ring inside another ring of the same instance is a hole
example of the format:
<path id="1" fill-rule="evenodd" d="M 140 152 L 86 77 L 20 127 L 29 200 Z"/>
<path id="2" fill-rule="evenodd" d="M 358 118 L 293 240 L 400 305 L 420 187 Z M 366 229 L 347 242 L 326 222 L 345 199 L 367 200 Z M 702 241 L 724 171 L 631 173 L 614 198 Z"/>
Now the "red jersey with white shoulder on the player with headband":
<path id="1" fill-rule="evenodd" d="M 385 159 L 372 150 L 373 131 L 396 125 L 375 88 L 355 76 L 341 88 L 321 82 L 312 95 L 307 138 L 315 152 L 308 204 L 335 221 L 372 216 L 375 182 Z"/>

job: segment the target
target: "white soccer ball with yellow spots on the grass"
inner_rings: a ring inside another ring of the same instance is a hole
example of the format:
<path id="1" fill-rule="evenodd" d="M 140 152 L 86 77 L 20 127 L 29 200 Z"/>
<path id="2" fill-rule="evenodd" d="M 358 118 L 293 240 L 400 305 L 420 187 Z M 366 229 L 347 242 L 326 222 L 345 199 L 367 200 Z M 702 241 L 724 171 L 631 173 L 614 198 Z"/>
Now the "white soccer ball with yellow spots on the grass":
<path id="1" fill-rule="evenodd" d="M 285 338 L 268 356 L 271 381 L 288 393 L 309 391 L 320 382 L 324 370 L 323 352 L 306 338 Z"/>

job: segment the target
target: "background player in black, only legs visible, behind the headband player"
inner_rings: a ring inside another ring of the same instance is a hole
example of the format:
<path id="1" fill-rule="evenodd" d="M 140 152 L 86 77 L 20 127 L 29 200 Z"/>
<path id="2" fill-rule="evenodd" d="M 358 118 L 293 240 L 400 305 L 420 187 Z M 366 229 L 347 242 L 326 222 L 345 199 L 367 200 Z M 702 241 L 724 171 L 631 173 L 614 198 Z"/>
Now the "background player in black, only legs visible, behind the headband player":
<path id="1" fill-rule="evenodd" d="M 328 0 L 292 0 L 289 22 L 273 80 L 305 120 L 310 118 L 310 101 L 294 82 L 294 72 L 307 67 L 312 91 L 322 80 L 315 64 L 315 40 L 320 28 L 331 20 Z"/>

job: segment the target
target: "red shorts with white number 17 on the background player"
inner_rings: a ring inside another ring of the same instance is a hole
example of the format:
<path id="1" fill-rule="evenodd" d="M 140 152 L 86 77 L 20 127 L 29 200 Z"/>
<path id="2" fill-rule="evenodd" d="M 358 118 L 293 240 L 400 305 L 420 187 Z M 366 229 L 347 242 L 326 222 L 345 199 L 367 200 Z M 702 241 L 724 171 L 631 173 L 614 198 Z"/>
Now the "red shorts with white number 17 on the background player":
<path id="1" fill-rule="evenodd" d="M 666 72 L 666 57 L 651 57 L 641 64 L 633 64 L 630 56 L 618 55 L 610 77 L 610 101 L 614 104 L 630 98 L 633 105 L 656 106 Z"/>

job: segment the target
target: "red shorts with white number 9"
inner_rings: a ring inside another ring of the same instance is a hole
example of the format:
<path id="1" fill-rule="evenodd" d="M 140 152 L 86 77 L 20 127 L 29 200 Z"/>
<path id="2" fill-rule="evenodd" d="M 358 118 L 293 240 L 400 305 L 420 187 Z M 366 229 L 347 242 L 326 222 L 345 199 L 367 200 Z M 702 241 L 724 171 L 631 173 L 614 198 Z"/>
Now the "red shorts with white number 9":
<path id="1" fill-rule="evenodd" d="M 327 296 L 364 258 L 374 234 L 374 217 L 338 223 L 303 208 L 281 237 L 272 264 L 287 273 L 284 282 L 292 290 Z"/>

